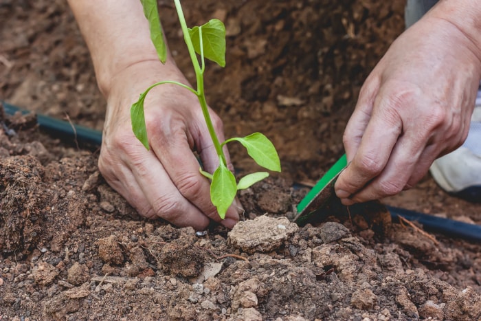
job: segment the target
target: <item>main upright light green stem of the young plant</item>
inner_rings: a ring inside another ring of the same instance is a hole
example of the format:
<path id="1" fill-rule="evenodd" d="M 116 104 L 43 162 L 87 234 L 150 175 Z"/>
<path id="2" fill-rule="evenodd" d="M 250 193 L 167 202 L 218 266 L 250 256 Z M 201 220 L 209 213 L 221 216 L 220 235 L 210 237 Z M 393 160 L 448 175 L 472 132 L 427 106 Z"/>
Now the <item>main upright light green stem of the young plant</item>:
<path id="1" fill-rule="evenodd" d="M 224 165 L 227 166 L 227 162 L 225 160 L 225 155 L 222 151 L 221 144 L 219 142 L 219 138 L 214 130 L 214 125 L 212 124 L 212 119 L 210 118 L 209 109 L 207 105 L 207 101 L 205 100 L 205 93 L 204 93 L 204 79 L 203 79 L 203 67 L 204 62 L 202 61 L 202 68 L 199 65 L 199 60 L 197 60 L 197 55 L 195 53 L 194 45 L 192 45 L 192 39 L 190 38 L 189 30 L 186 23 L 186 18 L 183 16 L 183 11 L 181 7 L 181 3 L 179 0 L 174 0 L 175 8 L 177 10 L 177 15 L 179 16 L 179 21 L 181 24 L 182 32 L 183 32 L 183 39 L 186 41 L 186 45 L 189 51 L 190 60 L 192 60 L 192 65 L 194 66 L 195 76 L 197 80 L 197 98 L 199 99 L 199 103 L 201 104 L 201 109 L 203 116 L 205 118 L 205 124 L 210 133 L 210 137 L 212 138 L 212 143 L 216 148 L 216 153 L 219 155 L 221 161 L 223 161 Z"/>

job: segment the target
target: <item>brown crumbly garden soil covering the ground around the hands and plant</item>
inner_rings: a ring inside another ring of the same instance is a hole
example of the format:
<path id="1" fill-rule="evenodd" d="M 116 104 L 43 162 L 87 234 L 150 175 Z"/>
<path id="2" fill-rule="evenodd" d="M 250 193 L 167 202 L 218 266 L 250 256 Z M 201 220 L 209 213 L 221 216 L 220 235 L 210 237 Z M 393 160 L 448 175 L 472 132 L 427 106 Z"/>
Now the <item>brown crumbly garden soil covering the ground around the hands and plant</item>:
<path id="1" fill-rule="evenodd" d="M 283 172 L 240 194 L 232 231 L 146 221 L 80 149 L 1 115 L 0 320 L 479 320 L 481 245 L 394 223 L 383 206 L 291 223 L 342 155 L 359 87 L 404 28 L 403 1 L 195 1 L 227 26 L 208 102 L 227 137 L 261 131 Z M 170 1 L 161 19 L 192 79 Z M 0 98 L 102 129 L 104 98 L 65 1 L 0 1 Z M 231 149 L 239 172 L 249 170 Z M 481 224 L 427 175 L 383 203 Z M 374 204 L 376 205 L 376 204 Z"/>

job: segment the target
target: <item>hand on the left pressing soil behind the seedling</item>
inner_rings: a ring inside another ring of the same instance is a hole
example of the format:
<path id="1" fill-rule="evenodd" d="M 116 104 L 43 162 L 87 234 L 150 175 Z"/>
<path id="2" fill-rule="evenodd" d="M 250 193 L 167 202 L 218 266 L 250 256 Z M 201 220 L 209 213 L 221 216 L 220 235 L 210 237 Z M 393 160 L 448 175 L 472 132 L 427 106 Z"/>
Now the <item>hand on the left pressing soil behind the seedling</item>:
<path id="1" fill-rule="evenodd" d="M 219 164 L 197 97 L 177 85 L 159 85 L 144 104 L 150 151 L 134 136 L 130 107 L 148 86 L 161 80 L 187 80 L 175 65 L 144 61 L 131 65 L 111 81 L 99 168 L 107 182 L 144 217 L 161 217 L 178 226 L 203 230 L 210 219 L 232 228 L 242 208 L 234 201 L 221 221 L 210 201 L 210 182 Z M 210 112 L 223 140 L 220 118 Z M 227 152 L 227 151 L 225 151 Z M 228 166 L 232 168 L 226 153 Z"/>

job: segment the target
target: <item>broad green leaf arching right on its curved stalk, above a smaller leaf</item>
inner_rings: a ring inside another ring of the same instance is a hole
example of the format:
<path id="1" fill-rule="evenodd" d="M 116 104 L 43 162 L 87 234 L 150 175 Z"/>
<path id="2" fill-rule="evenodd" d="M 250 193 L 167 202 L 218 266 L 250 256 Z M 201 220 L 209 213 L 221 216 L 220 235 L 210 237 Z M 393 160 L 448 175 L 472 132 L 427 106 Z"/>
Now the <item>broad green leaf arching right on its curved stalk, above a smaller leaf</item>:
<path id="1" fill-rule="evenodd" d="M 234 137 L 226 140 L 222 145 L 234 140 L 240 142 L 240 144 L 243 144 L 243 146 L 247 148 L 247 153 L 257 164 L 268 170 L 280 172 L 280 160 L 276 147 L 274 147 L 272 142 L 269 138 L 265 137 L 265 135 L 261 133 L 253 133 L 245 137 Z"/>

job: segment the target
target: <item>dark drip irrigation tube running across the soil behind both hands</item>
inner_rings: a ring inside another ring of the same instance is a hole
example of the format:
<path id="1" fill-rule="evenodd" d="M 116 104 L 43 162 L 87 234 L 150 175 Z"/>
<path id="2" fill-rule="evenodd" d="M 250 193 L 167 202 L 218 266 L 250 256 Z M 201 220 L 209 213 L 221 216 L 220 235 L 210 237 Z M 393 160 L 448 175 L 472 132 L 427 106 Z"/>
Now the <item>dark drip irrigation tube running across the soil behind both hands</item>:
<path id="1" fill-rule="evenodd" d="M 1 101 L 5 113 L 13 115 L 17 111 L 21 113 L 29 113 L 24 109 L 13 106 L 6 102 Z M 57 120 L 47 115 L 37 115 L 38 125 L 54 133 L 54 135 L 60 135 L 60 137 L 75 138 L 79 143 L 87 143 L 100 146 L 102 143 L 102 132 L 94 129 L 89 129 L 85 126 L 72 125 L 69 122 L 63 120 Z M 74 130 L 75 129 L 75 130 Z M 481 242 L 481 225 L 463 223 L 460 221 L 454 221 L 452 219 L 445 219 L 443 217 L 436 217 L 434 215 L 423 214 L 412 210 L 406 210 L 405 208 L 396 208 L 393 206 L 386 206 L 391 217 L 394 220 L 398 219 L 398 215 L 404 217 L 409 221 L 417 221 L 423 225 L 426 230 L 445 234 L 447 236 L 467 239 L 469 241 Z"/>

